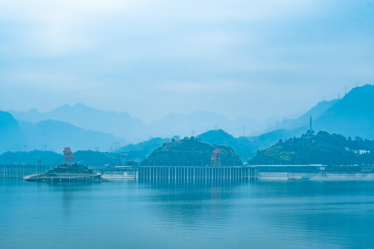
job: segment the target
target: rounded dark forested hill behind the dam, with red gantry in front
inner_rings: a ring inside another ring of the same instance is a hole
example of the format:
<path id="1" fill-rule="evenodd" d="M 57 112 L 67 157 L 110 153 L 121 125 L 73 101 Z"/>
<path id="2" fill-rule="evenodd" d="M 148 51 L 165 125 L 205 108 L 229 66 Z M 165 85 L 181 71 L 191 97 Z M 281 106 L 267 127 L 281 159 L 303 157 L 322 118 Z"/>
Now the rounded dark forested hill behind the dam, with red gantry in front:
<path id="1" fill-rule="evenodd" d="M 211 165 L 211 154 L 214 149 L 221 150 L 222 166 L 242 165 L 242 160 L 231 147 L 209 145 L 193 137 L 164 143 L 141 165 Z"/>

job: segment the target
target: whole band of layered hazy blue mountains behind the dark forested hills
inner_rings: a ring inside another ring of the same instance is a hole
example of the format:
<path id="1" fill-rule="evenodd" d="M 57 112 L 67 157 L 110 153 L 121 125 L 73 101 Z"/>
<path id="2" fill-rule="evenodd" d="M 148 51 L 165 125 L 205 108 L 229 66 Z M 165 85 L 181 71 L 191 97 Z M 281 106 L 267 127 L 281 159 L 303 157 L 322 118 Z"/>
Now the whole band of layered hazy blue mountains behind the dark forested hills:
<path id="1" fill-rule="evenodd" d="M 248 160 L 257 150 L 269 147 L 278 139 L 300 136 L 309 129 L 311 116 L 315 131 L 373 139 L 373 97 L 373 85 L 357 87 L 341 100 L 317 103 L 299 118 L 285 118 L 278 124 L 266 125 L 245 117 L 231 121 L 205 111 L 188 115 L 170 113 L 145 123 L 126 112 L 102 111 L 83 104 L 73 107 L 66 104 L 46 113 L 36 109 L 1 111 L 0 151 L 61 151 L 64 146 L 70 146 L 74 150 L 132 151 L 134 160 L 143 160 L 173 136 L 197 136 L 203 142 L 233 147 L 243 160 Z M 257 135 L 248 136 L 249 128 L 257 130 Z M 241 136 L 243 131 L 247 136 Z M 132 145 L 127 145 L 129 142 Z"/>

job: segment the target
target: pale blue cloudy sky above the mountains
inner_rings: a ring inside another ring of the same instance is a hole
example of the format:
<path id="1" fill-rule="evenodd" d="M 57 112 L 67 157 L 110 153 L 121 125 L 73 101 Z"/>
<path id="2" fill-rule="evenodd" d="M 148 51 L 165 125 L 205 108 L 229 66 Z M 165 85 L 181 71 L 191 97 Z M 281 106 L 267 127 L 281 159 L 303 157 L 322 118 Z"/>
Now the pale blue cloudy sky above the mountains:
<path id="1" fill-rule="evenodd" d="M 0 0 L 0 109 L 292 116 L 374 84 L 374 1 Z"/>

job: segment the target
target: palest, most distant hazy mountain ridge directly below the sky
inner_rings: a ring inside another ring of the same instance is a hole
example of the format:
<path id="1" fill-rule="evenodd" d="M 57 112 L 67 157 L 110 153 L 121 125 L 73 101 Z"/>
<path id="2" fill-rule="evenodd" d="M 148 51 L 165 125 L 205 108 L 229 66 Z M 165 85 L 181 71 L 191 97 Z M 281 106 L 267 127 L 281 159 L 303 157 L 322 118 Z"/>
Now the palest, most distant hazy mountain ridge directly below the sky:
<path id="1" fill-rule="evenodd" d="M 242 134 L 242 129 L 259 131 L 265 129 L 272 120 L 259 122 L 252 118 L 242 117 L 229 120 L 218 113 L 196 111 L 190 114 L 170 113 L 159 120 L 145 123 L 139 118 L 130 116 L 127 112 L 103 111 L 87 107 L 84 104 L 70 106 L 65 104 L 52 111 L 39 112 L 37 109 L 29 111 L 8 111 L 17 120 L 40 122 L 43 120 L 57 120 L 69 122 L 83 129 L 112 133 L 128 142 L 140 142 L 150 137 L 193 136 L 210 129 L 222 128 L 235 136 Z"/>

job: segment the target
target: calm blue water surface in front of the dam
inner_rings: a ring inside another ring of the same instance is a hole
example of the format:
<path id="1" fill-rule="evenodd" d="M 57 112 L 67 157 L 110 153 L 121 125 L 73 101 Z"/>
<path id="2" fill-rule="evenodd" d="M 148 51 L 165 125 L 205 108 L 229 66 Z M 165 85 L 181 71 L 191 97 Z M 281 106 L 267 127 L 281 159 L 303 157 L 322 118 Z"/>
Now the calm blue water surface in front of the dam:
<path id="1" fill-rule="evenodd" d="M 0 248 L 374 248 L 374 182 L 0 180 Z"/>

